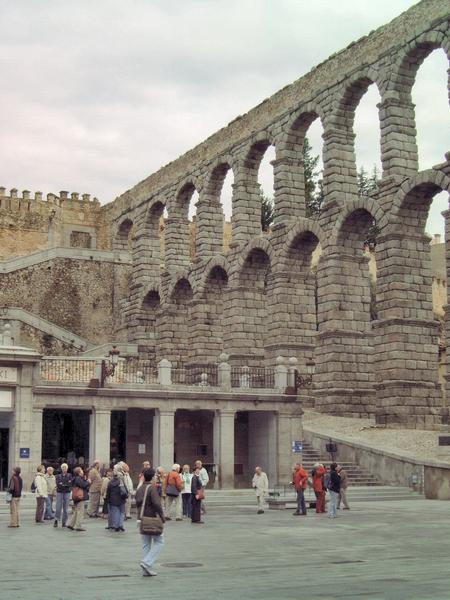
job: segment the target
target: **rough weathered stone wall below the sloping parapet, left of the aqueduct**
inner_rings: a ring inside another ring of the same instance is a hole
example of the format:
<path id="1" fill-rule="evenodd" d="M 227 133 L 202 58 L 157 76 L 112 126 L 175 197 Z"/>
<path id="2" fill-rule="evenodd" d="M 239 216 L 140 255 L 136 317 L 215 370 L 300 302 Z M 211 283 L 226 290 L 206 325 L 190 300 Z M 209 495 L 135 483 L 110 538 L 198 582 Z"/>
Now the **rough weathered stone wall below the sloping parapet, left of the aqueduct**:
<path id="1" fill-rule="evenodd" d="M 110 342 L 120 323 L 120 301 L 128 294 L 129 265 L 60 258 L 0 274 L 0 306 L 19 307 L 95 343 Z M 23 326 L 22 343 L 43 354 L 70 347 L 36 328 Z M 72 349 L 73 353 L 73 349 Z"/>

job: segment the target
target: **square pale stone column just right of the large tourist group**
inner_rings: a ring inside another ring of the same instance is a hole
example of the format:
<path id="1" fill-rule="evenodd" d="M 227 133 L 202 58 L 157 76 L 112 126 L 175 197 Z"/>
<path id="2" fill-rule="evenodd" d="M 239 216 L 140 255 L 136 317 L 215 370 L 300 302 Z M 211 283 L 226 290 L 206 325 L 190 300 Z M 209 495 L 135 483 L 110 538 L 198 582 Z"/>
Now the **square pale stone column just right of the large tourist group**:
<path id="1" fill-rule="evenodd" d="M 234 488 L 234 410 L 214 413 L 214 463 L 220 488 Z"/>

